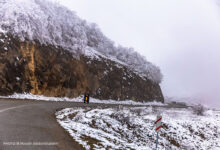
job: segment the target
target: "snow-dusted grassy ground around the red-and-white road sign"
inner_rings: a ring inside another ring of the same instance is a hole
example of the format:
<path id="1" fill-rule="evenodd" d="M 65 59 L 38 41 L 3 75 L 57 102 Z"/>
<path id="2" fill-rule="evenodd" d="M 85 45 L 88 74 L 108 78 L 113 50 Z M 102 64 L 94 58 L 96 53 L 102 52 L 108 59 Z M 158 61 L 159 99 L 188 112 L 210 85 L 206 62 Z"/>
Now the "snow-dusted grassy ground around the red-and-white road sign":
<path id="1" fill-rule="evenodd" d="M 59 124 L 86 149 L 155 148 L 155 119 L 161 114 L 159 149 L 220 149 L 220 112 L 204 116 L 190 109 L 66 108 L 56 113 Z"/>

